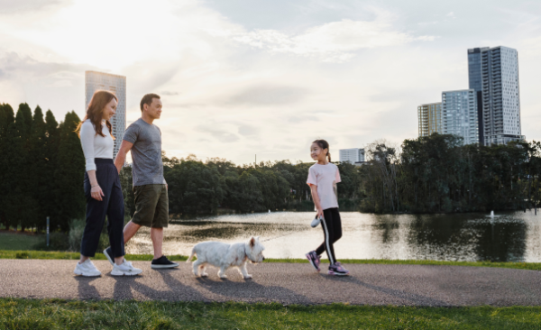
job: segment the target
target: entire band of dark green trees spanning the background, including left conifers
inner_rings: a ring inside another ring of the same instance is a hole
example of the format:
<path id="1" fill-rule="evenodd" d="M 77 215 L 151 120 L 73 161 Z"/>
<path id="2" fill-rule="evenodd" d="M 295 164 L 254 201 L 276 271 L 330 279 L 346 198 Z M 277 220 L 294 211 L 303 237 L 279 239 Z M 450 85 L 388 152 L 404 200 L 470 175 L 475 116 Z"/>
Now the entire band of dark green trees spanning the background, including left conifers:
<path id="1" fill-rule="evenodd" d="M 66 114 L 60 124 L 40 106 L 16 113 L 0 104 L 0 225 L 67 232 L 84 218 L 85 158 L 75 129 L 80 118 Z M 455 135 L 433 134 L 384 140 L 366 147 L 363 166 L 336 163 L 342 209 L 375 213 L 447 213 L 517 210 L 541 200 L 541 143 L 511 142 L 490 147 L 463 145 Z M 225 159 L 168 158 L 170 214 L 215 214 L 314 209 L 306 184 L 312 163 L 289 160 L 235 165 Z M 133 215 L 132 169 L 120 173 L 126 215 Z"/>

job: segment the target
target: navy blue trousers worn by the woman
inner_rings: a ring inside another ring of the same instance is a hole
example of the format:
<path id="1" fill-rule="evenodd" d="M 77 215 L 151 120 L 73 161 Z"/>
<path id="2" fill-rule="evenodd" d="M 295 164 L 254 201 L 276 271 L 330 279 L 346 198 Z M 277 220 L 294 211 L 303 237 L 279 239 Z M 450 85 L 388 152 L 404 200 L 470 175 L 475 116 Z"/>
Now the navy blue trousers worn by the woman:
<path id="1" fill-rule="evenodd" d="M 81 254 L 94 257 L 99 243 L 99 236 L 107 215 L 107 232 L 113 252 L 112 257 L 124 256 L 124 197 L 120 187 L 120 178 L 115 163 L 111 159 L 96 158 L 97 184 L 104 192 L 102 201 L 90 195 L 90 180 L 85 172 L 85 197 L 87 198 L 87 225 L 81 242 Z"/>

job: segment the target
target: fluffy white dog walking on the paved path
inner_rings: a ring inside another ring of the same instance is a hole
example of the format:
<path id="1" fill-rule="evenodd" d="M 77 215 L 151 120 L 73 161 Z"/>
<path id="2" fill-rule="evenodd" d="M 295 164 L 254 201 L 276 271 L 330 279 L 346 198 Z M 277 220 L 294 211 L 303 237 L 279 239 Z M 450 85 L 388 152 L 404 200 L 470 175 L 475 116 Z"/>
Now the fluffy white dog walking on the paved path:
<path id="1" fill-rule="evenodd" d="M 259 236 L 252 237 L 245 243 L 202 242 L 194 246 L 187 262 L 197 254 L 197 261 L 192 264 L 196 276 L 199 276 L 199 270 L 201 270 L 202 277 L 208 276 L 205 268 L 206 264 L 211 264 L 220 268 L 218 276 L 221 279 L 227 278 L 225 270 L 231 267 L 236 267 L 244 279 L 252 279 L 252 275 L 248 274 L 248 270 L 246 270 L 246 262 L 257 263 L 264 261 L 263 250 L 265 250 L 265 247 L 261 245 Z"/>

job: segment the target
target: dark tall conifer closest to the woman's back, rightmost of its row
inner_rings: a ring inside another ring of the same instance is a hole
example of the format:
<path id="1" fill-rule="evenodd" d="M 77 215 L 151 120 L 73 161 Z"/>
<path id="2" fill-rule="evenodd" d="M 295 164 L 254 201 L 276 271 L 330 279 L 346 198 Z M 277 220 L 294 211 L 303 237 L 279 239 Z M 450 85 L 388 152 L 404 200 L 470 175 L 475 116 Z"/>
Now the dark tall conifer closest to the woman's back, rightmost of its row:
<path id="1" fill-rule="evenodd" d="M 81 120 L 75 112 L 66 114 L 60 124 L 60 146 L 55 180 L 60 187 L 57 205 L 60 215 L 51 224 L 59 225 L 62 231 L 69 230 L 69 222 L 85 215 L 83 176 L 85 156 L 75 129 Z"/>

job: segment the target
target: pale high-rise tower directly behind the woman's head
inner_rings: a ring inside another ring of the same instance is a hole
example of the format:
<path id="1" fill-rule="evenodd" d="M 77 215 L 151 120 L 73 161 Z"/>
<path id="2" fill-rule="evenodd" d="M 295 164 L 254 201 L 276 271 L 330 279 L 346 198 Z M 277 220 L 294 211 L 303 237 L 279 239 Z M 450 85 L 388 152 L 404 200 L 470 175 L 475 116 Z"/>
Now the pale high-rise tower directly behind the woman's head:
<path id="1" fill-rule="evenodd" d="M 109 73 L 86 71 L 85 109 L 87 109 L 94 92 L 100 89 L 113 92 L 118 97 L 116 114 L 111 118 L 113 136 L 115 136 L 115 149 L 113 151 L 113 158 L 115 159 L 126 130 L 126 78 Z"/>

